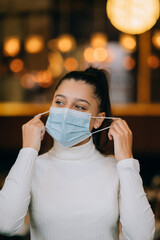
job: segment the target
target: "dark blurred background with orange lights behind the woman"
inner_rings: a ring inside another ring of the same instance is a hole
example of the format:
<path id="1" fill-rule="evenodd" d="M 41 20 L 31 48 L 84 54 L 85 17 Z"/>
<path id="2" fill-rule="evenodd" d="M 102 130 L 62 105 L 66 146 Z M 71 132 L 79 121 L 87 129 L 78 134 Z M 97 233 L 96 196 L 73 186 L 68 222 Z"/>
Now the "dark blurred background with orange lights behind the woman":
<path id="1" fill-rule="evenodd" d="M 159 4 L 0 0 L 0 187 L 22 146 L 22 124 L 49 110 L 59 79 L 90 65 L 104 68 L 113 116 L 133 131 L 134 157 L 160 239 Z M 14 239 L 29 239 L 28 222 Z"/>

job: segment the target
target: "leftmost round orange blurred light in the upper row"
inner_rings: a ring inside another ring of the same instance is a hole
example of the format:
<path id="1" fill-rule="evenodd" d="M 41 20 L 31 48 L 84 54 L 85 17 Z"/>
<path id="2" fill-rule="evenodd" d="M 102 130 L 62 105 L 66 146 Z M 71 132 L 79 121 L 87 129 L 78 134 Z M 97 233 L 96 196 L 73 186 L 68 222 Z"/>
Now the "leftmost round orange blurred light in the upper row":
<path id="1" fill-rule="evenodd" d="M 20 40 L 17 37 L 7 38 L 4 41 L 3 51 L 6 56 L 16 56 L 20 51 Z"/>

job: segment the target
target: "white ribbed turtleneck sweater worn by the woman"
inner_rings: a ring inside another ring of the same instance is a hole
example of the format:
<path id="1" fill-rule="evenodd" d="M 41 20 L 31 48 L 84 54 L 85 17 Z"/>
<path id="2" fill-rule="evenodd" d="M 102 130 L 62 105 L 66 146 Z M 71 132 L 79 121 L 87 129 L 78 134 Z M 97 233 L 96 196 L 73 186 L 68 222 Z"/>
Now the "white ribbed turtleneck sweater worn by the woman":
<path id="1" fill-rule="evenodd" d="M 32 240 L 151 240 L 154 216 L 139 163 L 101 155 L 92 142 L 20 150 L 0 191 L 0 232 L 13 235 L 29 206 Z"/>

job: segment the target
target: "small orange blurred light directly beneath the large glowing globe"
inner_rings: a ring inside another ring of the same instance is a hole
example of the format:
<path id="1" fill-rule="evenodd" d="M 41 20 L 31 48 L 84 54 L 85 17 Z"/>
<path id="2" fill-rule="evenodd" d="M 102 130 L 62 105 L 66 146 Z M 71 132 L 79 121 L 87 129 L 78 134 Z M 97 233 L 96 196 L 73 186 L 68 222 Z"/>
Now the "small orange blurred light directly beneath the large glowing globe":
<path id="1" fill-rule="evenodd" d="M 120 44 L 129 52 L 133 52 L 136 48 L 136 38 L 131 35 L 121 34 Z"/>

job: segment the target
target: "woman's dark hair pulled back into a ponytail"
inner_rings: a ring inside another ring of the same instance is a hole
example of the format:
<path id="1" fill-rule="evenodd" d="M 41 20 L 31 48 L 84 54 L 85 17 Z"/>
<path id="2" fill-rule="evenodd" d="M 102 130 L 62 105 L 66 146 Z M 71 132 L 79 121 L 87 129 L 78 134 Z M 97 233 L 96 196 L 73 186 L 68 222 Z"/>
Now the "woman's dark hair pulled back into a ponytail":
<path id="1" fill-rule="evenodd" d="M 84 81 L 87 84 L 90 84 L 94 87 L 94 95 L 98 98 L 100 105 L 99 111 L 105 112 L 106 116 L 111 116 L 111 104 L 109 98 L 109 87 L 108 80 L 109 74 L 107 71 L 103 69 L 97 69 L 93 67 L 87 68 L 85 71 L 73 71 L 67 73 L 58 83 L 56 89 L 60 86 L 60 84 L 69 79 L 74 79 L 75 81 Z M 109 126 L 111 120 L 104 120 L 99 129 L 102 129 L 106 126 Z M 96 129 L 97 130 L 97 129 Z M 93 129 L 92 132 L 94 132 Z M 105 135 L 104 135 L 105 132 Z M 107 133 L 107 134 L 106 134 Z M 108 131 L 98 132 L 93 134 L 93 142 L 96 146 L 96 149 L 102 153 L 106 151 L 105 147 L 108 143 Z"/>

